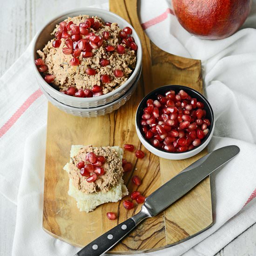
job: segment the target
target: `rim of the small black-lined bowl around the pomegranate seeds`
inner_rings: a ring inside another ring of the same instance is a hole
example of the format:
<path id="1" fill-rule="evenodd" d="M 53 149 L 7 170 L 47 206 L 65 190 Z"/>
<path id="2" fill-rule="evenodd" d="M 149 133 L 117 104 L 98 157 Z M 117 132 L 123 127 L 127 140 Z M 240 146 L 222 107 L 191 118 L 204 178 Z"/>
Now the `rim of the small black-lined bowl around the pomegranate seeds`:
<path id="1" fill-rule="evenodd" d="M 170 87 L 177 87 L 177 88 L 181 88 L 181 89 L 183 89 L 183 90 L 185 90 L 185 91 L 186 91 L 186 90 L 189 90 L 189 91 L 194 92 L 195 94 L 197 94 L 197 95 L 202 99 L 203 103 L 207 103 L 207 105 L 208 105 L 208 107 L 209 107 L 209 109 L 210 109 L 210 113 L 209 113 L 209 114 L 210 114 L 210 117 L 211 117 L 211 120 L 212 120 L 212 121 L 211 121 L 211 124 L 210 124 L 209 133 L 203 138 L 202 143 L 201 143 L 199 146 L 197 146 L 197 147 L 195 147 L 195 148 L 193 148 L 193 149 L 187 150 L 187 151 L 185 151 L 185 152 L 168 152 L 168 151 L 163 150 L 162 148 L 155 148 L 154 146 L 152 146 L 152 145 L 145 139 L 144 134 L 141 132 L 141 123 L 140 123 L 140 117 L 139 117 L 139 110 L 140 110 L 141 108 L 143 108 L 142 105 L 144 105 L 144 102 L 145 102 L 146 100 L 148 100 L 148 97 L 150 97 L 151 95 L 154 95 L 154 94 L 155 94 L 157 91 L 159 91 L 160 89 L 162 90 L 162 89 L 166 88 L 166 90 L 168 91 L 168 90 L 171 90 Z M 164 154 L 168 154 L 168 155 L 186 155 L 186 154 L 188 154 L 189 152 L 192 152 L 192 151 L 194 151 L 195 149 L 200 148 L 200 146 L 204 145 L 204 143 L 208 140 L 209 136 L 211 136 L 211 134 L 213 133 L 213 130 L 214 130 L 214 127 L 215 127 L 215 118 L 214 118 L 213 109 L 212 109 L 212 107 L 211 107 L 209 101 L 208 101 L 208 100 L 206 99 L 206 97 L 205 97 L 204 95 L 202 95 L 200 92 L 198 92 L 198 91 L 196 91 L 195 89 L 190 88 L 190 87 L 188 87 L 188 86 L 178 85 L 178 84 L 169 84 L 169 85 L 164 85 L 164 86 L 161 86 L 161 87 L 159 87 L 159 88 L 156 88 L 156 89 L 154 89 L 153 91 L 151 91 L 150 93 L 148 93 L 146 96 L 144 96 L 144 98 L 141 100 L 141 102 L 140 102 L 140 104 L 138 105 L 138 108 L 137 108 L 137 110 L 136 110 L 135 124 L 136 124 L 136 128 L 137 128 L 137 129 L 136 129 L 137 132 L 140 133 L 141 138 L 143 138 L 143 141 L 144 141 L 145 143 L 147 143 L 148 146 L 153 147 L 153 148 L 155 148 L 155 150 L 157 150 L 157 151 L 159 151 L 159 152 L 161 152 L 161 153 L 164 153 Z"/>

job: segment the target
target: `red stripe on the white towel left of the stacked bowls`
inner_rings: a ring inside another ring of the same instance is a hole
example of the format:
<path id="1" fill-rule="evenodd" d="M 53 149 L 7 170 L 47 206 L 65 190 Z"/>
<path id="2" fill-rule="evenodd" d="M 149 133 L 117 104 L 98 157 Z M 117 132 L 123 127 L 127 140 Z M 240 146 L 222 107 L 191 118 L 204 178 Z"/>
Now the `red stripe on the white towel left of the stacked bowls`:
<path id="1" fill-rule="evenodd" d="M 31 104 L 42 95 L 42 91 L 37 89 L 31 94 L 27 100 L 18 108 L 18 110 L 10 117 L 10 119 L 0 128 L 0 138 L 7 133 L 20 116 L 31 106 Z"/>

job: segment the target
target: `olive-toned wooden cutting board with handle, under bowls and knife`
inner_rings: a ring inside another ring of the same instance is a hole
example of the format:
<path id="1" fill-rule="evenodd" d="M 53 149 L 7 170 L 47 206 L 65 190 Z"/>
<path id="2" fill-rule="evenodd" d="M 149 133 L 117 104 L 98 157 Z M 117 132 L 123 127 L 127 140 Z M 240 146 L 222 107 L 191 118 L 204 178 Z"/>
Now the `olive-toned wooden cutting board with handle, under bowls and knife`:
<path id="1" fill-rule="evenodd" d="M 186 160 L 170 161 L 149 153 L 141 145 L 135 131 L 135 111 L 143 96 L 167 84 L 182 84 L 202 92 L 201 61 L 168 54 L 156 47 L 141 28 L 136 0 L 110 0 L 110 10 L 132 24 L 141 39 L 142 78 L 135 94 L 114 113 L 97 118 L 68 115 L 48 104 L 43 229 L 78 247 L 133 216 L 141 205 L 128 211 L 120 201 L 103 204 L 88 214 L 80 212 L 75 200 L 67 195 L 68 176 L 62 169 L 69 161 L 71 145 L 122 147 L 128 143 L 141 148 L 146 153 L 143 159 L 125 152 L 124 157 L 134 164 L 134 170 L 126 173 L 124 180 L 130 192 L 139 190 L 145 196 L 207 153 L 204 150 Z M 131 182 L 133 175 L 142 180 L 139 188 Z M 108 220 L 109 211 L 118 213 L 118 219 Z M 142 222 L 110 252 L 132 254 L 163 249 L 195 236 L 212 223 L 210 180 L 206 178 L 164 212 Z"/>

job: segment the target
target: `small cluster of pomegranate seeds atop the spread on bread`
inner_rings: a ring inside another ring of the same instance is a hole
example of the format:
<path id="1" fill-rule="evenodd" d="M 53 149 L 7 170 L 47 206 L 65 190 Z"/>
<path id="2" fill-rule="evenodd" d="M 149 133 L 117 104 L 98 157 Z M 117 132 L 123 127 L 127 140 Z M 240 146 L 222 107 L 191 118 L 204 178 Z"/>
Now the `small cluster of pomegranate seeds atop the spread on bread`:
<path id="1" fill-rule="evenodd" d="M 87 182 L 94 182 L 98 176 L 104 174 L 104 168 L 102 167 L 105 162 L 103 155 L 95 155 L 93 152 L 86 154 L 85 161 L 79 162 L 76 167 L 80 169 L 82 176 L 87 177 Z"/>

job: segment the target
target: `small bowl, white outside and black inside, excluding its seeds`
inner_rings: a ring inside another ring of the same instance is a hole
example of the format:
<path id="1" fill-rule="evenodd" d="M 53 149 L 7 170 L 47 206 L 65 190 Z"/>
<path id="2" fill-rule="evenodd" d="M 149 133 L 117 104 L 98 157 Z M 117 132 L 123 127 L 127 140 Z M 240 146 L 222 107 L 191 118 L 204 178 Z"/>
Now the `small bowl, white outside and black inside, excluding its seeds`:
<path id="1" fill-rule="evenodd" d="M 181 89 L 184 90 L 185 92 L 187 92 L 189 95 L 191 95 L 192 98 L 196 98 L 198 101 L 202 101 L 204 103 L 205 108 L 207 110 L 207 118 L 211 122 L 211 125 L 209 127 L 208 135 L 206 135 L 206 137 L 202 139 L 202 144 L 200 144 L 199 146 L 197 146 L 191 150 L 185 151 L 185 152 L 172 153 L 172 152 L 167 152 L 161 148 L 155 148 L 147 141 L 146 138 L 144 138 L 143 133 L 141 132 L 141 129 L 140 129 L 140 127 L 141 127 L 140 120 L 141 120 L 141 113 L 143 111 L 143 108 L 146 107 L 146 102 L 148 99 L 155 99 L 157 94 L 164 94 L 168 90 L 179 91 Z M 198 154 L 209 144 L 209 142 L 213 136 L 215 122 L 214 122 L 214 114 L 213 114 L 212 107 L 211 107 L 209 101 L 207 101 L 207 99 L 202 94 L 200 94 L 196 90 L 186 87 L 186 86 L 166 85 L 166 86 L 162 86 L 162 87 L 155 89 L 154 91 L 150 92 L 148 95 L 146 95 L 142 99 L 142 101 L 139 104 L 137 111 L 136 111 L 135 127 L 136 127 L 136 132 L 137 132 L 137 135 L 138 135 L 141 143 L 143 144 L 143 146 L 145 148 L 148 149 L 148 151 L 150 151 L 154 155 L 157 155 L 157 156 L 165 158 L 165 159 L 181 160 L 181 159 L 189 158 L 191 156 Z"/>

